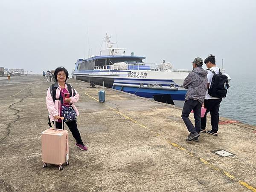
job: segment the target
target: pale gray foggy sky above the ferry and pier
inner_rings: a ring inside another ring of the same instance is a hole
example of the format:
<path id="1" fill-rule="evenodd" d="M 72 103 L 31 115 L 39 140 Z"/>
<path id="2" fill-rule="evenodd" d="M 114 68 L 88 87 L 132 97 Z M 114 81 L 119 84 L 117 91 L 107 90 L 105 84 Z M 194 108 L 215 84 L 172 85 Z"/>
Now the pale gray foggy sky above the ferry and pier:
<path id="1" fill-rule="evenodd" d="M 146 63 L 192 69 L 215 54 L 230 75 L 255 74 L 255 10 L 255 0 L 0 0 L 0 66 L 71 74 L 108 33 Z"/>

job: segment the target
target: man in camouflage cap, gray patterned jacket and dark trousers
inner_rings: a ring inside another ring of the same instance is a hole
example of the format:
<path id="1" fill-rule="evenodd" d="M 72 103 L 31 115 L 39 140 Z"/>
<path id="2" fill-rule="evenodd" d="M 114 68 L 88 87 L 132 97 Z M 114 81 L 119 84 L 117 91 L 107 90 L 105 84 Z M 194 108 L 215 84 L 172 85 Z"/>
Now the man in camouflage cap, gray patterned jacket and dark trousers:
<path id="1" fill-rule="evenodd" d="M 201 107 L 207 90 L 207 71 L 202 68 L 203 60 L 200 57 L 192 62 L 193 71 L 189 73 L 183 82 L 183 87 L 188 89 L 182 110 L 182 119 L 190 134 L 186 141 L 199 141 L 201 128 Z M 190 112 L 194 110 L 195 126 L 189 120 Z"/>

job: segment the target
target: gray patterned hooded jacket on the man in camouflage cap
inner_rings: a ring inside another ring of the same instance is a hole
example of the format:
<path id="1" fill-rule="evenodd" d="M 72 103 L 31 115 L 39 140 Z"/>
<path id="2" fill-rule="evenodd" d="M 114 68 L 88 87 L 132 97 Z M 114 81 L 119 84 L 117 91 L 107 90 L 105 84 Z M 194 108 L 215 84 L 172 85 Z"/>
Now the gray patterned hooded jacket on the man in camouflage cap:
<path id="1" fill-rule="evenodd" d="M 196 67 L 183 82 L 183 87 L 188 89 L 185 100 L 198 100 L 204 102 L 207 90 L 207 71 L 202 67 Z"/>

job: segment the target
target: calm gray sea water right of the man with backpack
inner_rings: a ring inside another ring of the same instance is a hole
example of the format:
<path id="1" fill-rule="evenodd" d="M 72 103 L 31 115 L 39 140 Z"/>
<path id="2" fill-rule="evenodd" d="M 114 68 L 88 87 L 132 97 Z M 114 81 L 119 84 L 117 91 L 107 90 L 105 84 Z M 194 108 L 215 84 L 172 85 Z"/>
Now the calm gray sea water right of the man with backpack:
<path id="1" fill-rule="evenodd" d="M 220 116 L 256 125 L 256 75 L 230 76 L 230 88 L 227 97 L 222 99 Z"/>

